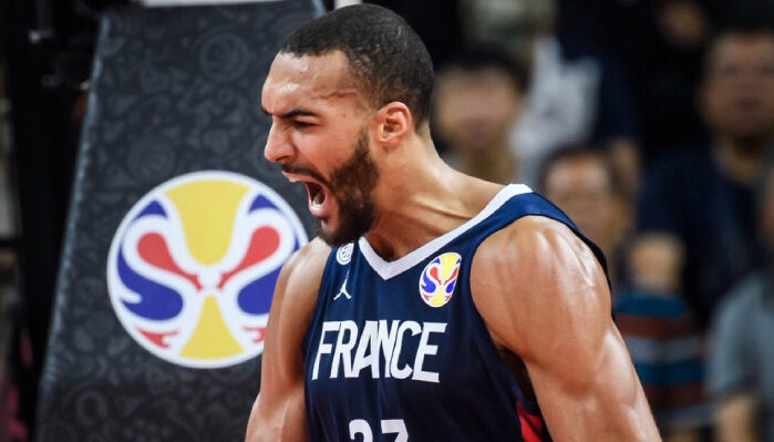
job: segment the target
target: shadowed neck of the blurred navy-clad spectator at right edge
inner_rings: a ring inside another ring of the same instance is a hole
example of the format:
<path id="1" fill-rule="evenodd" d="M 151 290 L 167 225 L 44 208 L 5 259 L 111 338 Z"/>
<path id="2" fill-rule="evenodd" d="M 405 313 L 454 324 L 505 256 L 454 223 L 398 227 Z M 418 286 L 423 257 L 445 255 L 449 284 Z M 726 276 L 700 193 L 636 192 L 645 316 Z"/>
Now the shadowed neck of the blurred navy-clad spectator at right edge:
<path id="1" fill-rule="evenodd" d="M 767 145 L 768 141 L 721 140 L 718 150 L 719 166 L 732 181 L 752 186 L 757 178 Z"/>

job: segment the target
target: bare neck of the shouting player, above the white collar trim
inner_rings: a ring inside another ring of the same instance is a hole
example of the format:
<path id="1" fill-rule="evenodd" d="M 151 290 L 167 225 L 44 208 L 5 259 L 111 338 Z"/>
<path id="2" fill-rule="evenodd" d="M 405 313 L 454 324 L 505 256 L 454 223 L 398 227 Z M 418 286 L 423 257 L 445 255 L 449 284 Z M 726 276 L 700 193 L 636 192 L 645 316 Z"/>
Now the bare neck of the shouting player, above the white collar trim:
<path id="1" fill-rule="evenodd" d="M 461 226 L 502 188 L 454 171 L 430 142 L 405 147 L 385 160 L 383 171 L 391 173 L 380 178 L 374 192 L 376 220 L 365 234 L 385 260 L 405 256 Z"/>

